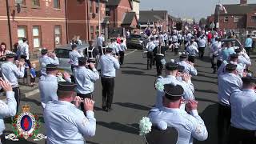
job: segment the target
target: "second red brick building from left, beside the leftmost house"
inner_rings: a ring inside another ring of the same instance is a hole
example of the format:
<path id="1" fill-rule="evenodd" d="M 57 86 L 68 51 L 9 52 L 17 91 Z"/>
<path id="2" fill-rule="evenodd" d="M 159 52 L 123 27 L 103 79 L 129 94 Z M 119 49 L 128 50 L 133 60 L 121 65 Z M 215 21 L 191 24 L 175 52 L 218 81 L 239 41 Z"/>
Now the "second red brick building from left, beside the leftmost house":
<path id="1" fill-rule="evenodd" d="M 82 41 L 94 40 L 99 29 L 105 33 L 102 22 L 106 17 L 107 0 L 66 0 L 66 2 L 69 41 L 78 35 Z"/>

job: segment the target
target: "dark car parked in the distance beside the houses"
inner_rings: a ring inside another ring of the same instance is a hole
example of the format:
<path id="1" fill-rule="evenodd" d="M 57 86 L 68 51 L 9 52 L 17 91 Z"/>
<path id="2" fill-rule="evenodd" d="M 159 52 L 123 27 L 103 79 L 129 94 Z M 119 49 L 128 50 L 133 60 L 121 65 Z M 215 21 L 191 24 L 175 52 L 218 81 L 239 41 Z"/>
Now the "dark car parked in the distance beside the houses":
<path id="1" fill-rule="evenodd" d="M 131 34 L 130 38 L 127 38 L 126 45 L 128 49 L 144 49 L 148 40 L 143 34 Z"/>

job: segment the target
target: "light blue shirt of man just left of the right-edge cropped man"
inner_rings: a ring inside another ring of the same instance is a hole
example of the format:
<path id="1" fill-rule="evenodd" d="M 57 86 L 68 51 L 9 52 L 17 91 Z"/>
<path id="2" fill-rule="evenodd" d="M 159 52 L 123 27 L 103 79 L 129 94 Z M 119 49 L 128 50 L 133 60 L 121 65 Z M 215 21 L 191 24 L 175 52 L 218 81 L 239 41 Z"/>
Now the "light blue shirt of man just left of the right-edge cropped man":
<path id="1" fill-rule="evenodd" d="M 230 94 L 242 88 L 242 79 L 235 74 L 218 75 L 218 102 L 230 106 Z"/>

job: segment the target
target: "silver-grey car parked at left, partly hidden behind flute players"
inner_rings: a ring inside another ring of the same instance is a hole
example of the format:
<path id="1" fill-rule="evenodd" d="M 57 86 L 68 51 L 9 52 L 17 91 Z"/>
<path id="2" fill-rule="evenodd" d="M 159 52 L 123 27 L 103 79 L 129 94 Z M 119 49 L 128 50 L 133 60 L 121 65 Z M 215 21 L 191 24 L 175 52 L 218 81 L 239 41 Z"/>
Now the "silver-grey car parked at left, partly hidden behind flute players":
<path id="1" fill-rule="evenodd" d="M 87 47 L 89 47 L 89 45 L 86 43 L 83 43 L 82 45 L 78 45 L 78 51 L 81 54 L 84 54 L 84 50 Z M 68 44 L 68 45 L 59 46 L 59 47 L 55 48 L 54 53 L 58 57 L 58 61 L 59 61 L 58 70 L 66 71 L 69 74 L 72 74 L 71 65 L 69 63 L 70 62 L 70 58 L 69 58 L 70 51 L 72 51 L 71 45 Z"/>

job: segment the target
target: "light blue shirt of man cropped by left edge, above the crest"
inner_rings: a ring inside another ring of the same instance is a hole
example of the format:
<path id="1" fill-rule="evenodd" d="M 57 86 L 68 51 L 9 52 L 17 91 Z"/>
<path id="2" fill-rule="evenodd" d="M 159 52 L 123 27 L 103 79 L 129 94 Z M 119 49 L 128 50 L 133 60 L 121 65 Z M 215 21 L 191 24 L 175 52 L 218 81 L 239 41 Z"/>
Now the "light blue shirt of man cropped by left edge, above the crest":
<path id="1" fill-rule="evenodd" d="M 3 118 L 14 117 L 16 114 L 17 102 L 13 91 L 6 92 L 6 102 L 0 100 L 0 134 L 6 129 Z M 0 142 L 1 143 L 1 142 Z"/>

